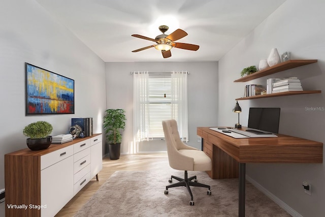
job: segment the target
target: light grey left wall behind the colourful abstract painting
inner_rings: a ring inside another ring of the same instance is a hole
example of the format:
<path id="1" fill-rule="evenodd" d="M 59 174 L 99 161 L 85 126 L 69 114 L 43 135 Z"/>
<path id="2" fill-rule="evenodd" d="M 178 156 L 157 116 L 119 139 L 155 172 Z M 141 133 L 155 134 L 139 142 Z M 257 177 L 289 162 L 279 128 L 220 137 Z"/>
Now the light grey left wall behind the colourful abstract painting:
<path id="1" fill-rule="evenodd" d="M 0 7 L 0 189 L 4 154 L 27 148 L 23 128 L 45 120 L 53 135 L 68 133 L 71 117 L 93 117 L 102 133 L 106 108 L 105 63 L 34 0 L 5 0 Z M 75 80 L 75 114 L 25 116 L 25 68 L 30 63 Z M 5 216 L 5 203 L 0 204 Z"/>

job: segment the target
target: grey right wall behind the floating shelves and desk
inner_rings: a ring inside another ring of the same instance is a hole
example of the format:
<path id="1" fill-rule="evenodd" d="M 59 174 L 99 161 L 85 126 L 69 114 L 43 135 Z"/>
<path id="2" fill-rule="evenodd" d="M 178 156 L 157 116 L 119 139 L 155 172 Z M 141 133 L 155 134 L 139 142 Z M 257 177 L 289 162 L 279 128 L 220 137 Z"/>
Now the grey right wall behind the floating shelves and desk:
<path id="1" fill-rule="evenodd" d="M 241 123 L 247 126 L 249 107 L 280 107 L 279 133 L 324 143 L 325 111 L 308 111 L 306 107 L 325 107 L 325 2 L 288 0 L 253 32 L 219 60 L 220 126 L 233 126 L 235 99 L 243 96 L 246 84 L 265 84 L 270 77 L 298 77 L 305 90 L 322 90 L 321 94 L 297 95 L 239 101 L 243 110 Z M 290 51 L 293 59 L 318 59 L 318 63 L 276 73 L 245 83 L 234 83 L 243 68 L 258 66 L 271 49 L 280 55 Z M 324 164 L 247 164 L 247 174 L 273 195 L 301 215 L 324 216 Z M 312 185 L 312 195 L 304 193 L 302 182 Z"/>

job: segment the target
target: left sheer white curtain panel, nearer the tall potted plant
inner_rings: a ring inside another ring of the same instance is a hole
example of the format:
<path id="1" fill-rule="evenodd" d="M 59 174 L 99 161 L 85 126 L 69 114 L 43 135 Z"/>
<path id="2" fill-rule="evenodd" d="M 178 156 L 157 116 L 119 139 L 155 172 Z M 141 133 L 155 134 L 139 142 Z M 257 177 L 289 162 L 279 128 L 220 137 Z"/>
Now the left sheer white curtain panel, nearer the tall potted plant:
<path id="1" fill-rule="evenodd" d="M 133 136 L 134 144 L 148 139 L 149 133 L 149 73 L 133 74 Z"/>

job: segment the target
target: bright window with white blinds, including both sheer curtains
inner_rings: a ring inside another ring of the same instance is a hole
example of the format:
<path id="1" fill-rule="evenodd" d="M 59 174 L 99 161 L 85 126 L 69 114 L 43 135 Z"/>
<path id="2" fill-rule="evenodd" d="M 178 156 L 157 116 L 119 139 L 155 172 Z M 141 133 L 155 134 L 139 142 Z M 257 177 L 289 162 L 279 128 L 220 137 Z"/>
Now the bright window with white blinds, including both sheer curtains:
<path id="1" fill-rule="evenodd" d="M 165 119 L 176 119 L 180 136 L 187 141 L 187 72 L 134 73 L 135 142 L 164 138 Z"/>

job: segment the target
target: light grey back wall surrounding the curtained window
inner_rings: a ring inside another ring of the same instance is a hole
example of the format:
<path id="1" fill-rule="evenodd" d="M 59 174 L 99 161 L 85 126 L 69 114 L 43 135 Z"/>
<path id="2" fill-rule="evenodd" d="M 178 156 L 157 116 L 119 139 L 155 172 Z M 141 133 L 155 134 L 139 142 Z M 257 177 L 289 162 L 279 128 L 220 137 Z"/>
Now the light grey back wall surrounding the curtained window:
<path id="1" fill-rule="evenodd" d="M 107 108 L 126 110 L 127 120 L 121 152 L 131 153 L 133 151 L 131 147 L 133 141 L 133 76 L 130 72 L 183 70 L 190 73 L 188 75 L 188 144 L 201 149 L 201 142 L 197 141 L 197 127 L 215 126 L 217 123 L 217 68 L 217 62 L 106 63 Z"/>

